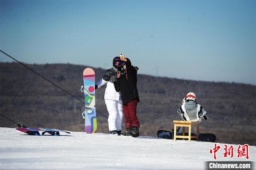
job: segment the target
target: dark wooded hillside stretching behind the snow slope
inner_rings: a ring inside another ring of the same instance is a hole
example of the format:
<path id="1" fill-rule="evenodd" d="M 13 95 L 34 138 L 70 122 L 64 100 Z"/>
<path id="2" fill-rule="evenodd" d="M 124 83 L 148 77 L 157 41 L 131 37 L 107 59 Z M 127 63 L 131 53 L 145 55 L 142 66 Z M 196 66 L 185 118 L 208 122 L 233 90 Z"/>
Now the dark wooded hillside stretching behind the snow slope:
<path id="1" fill-rule="evenodd" d="M 61 88 L 84 100 L 80 87 L 87 66 L 71 64 L 27 65 Z M 96 81 L 105 70 L 93 68 Z M 140 73 L 140 70 L 138 71 Z M 200 132 L 217 135 L 217 142 L 256 145 L 256 86 L 180 80 L 138 74 L 140 134 L 156 136 L 159 129 L 171 130 L 178 120 L 177 109 L 188 92 L 206 109 Z M 96 108 L 108 116 L 105 86 L 96 91 Z M 29 127 L 84 131 L 84 105 L 18 63 L 0 63 L 0 112 Z M 106 117 L 97 113 L 97 132 L 108 132 Z M 124 124 L 123 124 L 124 125 Z M 1 127 L 16 127 L 0 116 Z"/>

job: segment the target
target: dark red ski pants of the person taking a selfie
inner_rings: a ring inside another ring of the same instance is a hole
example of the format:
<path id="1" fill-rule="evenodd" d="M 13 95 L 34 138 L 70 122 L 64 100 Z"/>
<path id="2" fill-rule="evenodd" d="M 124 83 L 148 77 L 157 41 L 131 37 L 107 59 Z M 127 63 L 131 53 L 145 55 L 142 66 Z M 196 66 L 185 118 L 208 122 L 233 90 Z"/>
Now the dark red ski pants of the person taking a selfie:
<path id="1" fill-rule="evenodd" d="M 125 126 L 129 129 L 131 129 L 132 126 L 140 127 L 139 119 L 136 115 L 137 104 L 138 100 L 136 99 L 127 104 L 123 104 Z"/>

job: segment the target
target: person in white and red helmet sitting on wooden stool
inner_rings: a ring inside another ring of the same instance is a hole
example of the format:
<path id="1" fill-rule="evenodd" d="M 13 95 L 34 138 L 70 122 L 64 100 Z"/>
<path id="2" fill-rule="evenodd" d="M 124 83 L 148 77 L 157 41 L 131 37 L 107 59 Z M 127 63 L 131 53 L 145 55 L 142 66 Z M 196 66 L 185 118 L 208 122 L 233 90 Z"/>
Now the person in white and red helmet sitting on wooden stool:
<path id="1" fill-rule="evenodd" d="M 183 99 L 181 107 L 177 110 L 181 116 L 181 120 L 185 121 L 198 121 L 201 122 L 202 118 L 207 120 L 206 111 L 203 106 L 196 103 L 196 94 L 189 92 Z M 192 127 L 192 133 L 196 135 L 196 128 Z M 178 128 L 177 135 L 182 134 L 182 128 Z"/>

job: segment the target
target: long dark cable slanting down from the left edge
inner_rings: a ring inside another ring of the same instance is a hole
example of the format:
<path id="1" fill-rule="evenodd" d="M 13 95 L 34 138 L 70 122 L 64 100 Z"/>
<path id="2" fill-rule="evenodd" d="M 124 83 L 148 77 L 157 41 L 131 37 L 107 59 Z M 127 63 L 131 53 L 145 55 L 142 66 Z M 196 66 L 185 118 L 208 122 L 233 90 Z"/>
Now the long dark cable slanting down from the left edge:
<path id="1" fill-rule="evenodd" d="M 11 59 L 15 60 L 16 62 L 18 62 L 19 64 L 21 64 L 22 66 L 26 67 L 27 69 L 29 69 L 31 72 L 34 72 L 35 74 L 37 74 L 38 76 L 44 78 L 46 81 L 50 82 L 51 84 L 53 84 L 54 86 L 56 86 L 57 88 L 63 90 L 65 93 L 69 94 L 70 96 L 74 97 L 76 100 L 79 100 L 81 103 L 84 104 L 84 102 L 82 100 L 80 100 L 79 98 L 77 98 L 76 96 L 74 96 L 73 94 L 67 92 L 65 89 L 61 88 L 60 86 L 56 85 L 54 82 L 48 80 L 47 78 L 45 78 L 44 76 L 42 76 L 41 74 L 35 72 L 33 69 L 31 69 L 30 67 L 26 66 L 25 64 L 23 64 L 22 62 L 19 62 L 18 60 L 16 60 L 15 58 L 11 57 L 9 54 L 5 53 L 4 51 L 0 50 L 3 54 L 7 55 L 8 57 L 10 57 Z M 96 110 L 97 111 L 97 110 Z M 97 111 L 99 114 L 101 114 L 102 116 L 108 118 L 108 116 L 104 115 L 103 113 Z M 2 115 L 3 116 L 3 115 Z M 10 119 L 9 119 L 10 120 Z M 14 121 L 14 123 L 16 123 Z M 122 126 L 123 127 L 123 126 Z M 125 127 L 123 127 L 125 129 Z"/>

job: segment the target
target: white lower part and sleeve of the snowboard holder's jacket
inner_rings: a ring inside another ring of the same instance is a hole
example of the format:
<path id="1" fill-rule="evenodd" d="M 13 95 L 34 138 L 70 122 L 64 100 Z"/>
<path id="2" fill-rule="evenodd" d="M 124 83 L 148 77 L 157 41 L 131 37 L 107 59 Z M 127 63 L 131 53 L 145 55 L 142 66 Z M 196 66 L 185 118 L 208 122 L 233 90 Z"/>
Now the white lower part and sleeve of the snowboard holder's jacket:
<path id="1" fill-rule="evenodd" d="M 98 88 L 103 86 L 104 84 L 107 84 L 106 90 L 105 90 L 105 95 L 104 99 L 108 100 L 121 100 L 121 93 L 116 92 L 116 89 L 114 87 L 114 84 L 110 81 L 105 81 L 102 78 L 96 83 Z"/>

